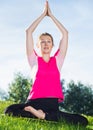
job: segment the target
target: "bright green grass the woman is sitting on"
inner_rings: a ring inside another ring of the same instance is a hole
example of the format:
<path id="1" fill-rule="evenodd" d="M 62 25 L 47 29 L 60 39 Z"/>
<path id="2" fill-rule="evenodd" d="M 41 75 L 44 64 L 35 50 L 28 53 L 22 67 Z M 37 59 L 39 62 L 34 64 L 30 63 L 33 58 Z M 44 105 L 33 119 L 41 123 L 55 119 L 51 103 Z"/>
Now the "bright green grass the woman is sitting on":
<path id="1" fill-rule="evenodd" d="M 50 122 L 37 119 L 16 118 L 4 115 L 4 109 L 11 102 L 0 102 L 0 130 L 93 130 L 93 117 L 87 117 L 89 125 L 75 126 L 65 122 Z"/>

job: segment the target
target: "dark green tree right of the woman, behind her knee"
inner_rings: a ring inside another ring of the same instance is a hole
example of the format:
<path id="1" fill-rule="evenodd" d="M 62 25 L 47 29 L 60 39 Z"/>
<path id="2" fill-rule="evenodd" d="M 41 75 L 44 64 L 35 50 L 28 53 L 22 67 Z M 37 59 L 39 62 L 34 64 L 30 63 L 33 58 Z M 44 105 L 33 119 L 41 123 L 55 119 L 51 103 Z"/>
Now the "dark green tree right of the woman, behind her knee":
<path id="1" fill-rule="evenodd" d="M 65 93 L 63 108 L 69 112 L 93 115 L 93 90 L 90 85 L 71 81 Z"/>

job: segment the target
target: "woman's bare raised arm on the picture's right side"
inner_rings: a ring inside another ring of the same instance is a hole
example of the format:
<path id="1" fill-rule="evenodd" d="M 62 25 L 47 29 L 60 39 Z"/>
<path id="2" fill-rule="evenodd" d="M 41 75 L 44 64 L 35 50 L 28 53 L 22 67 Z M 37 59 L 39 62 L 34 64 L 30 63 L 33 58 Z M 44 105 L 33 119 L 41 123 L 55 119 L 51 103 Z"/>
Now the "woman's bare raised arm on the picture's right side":
<path id="1" fill-rule="evenodd" d="M 48 14 L 47 14 L 53 22 L 56 24 L 58 29 L 61 32 L 61 40 L 59 44 L 59 50 L 60 50 L 60 55 L 65 57 L 66 52 L 67 52 L 67 47 L 68 47 L 68 31 L 65 29 L 65 27 L 52 15 L 51 10 L 49 8 L 48 4 Z"/>

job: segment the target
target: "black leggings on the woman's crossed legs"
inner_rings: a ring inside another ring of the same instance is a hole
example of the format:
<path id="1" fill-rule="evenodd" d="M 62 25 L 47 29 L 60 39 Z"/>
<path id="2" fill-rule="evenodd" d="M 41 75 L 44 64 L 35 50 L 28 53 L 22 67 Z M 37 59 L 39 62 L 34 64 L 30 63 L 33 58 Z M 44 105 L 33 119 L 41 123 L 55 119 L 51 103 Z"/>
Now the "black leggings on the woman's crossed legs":
<path id="1" fill-rule="evenodd" d="M 18 116 L 18 117 L 27 117 L 27 118 L 36 118 L 33 114 L 28 111 L 25 111 L 26 106 L 32 106 L 35 109 L 41 109 L 46 113 L 45 119 L 50 121 L 59 121 L 66 120 L 69 123 L 87 125 L 88 121 L 85 117 L 79 114 L 70 114 L 61 112 L 58 109 L 58 99 L 56 98 L 41 98 L 41 99 L 31 99 L 28 100 L 25 104 L 13 104 L 6 108 L 5 114 Z"/>

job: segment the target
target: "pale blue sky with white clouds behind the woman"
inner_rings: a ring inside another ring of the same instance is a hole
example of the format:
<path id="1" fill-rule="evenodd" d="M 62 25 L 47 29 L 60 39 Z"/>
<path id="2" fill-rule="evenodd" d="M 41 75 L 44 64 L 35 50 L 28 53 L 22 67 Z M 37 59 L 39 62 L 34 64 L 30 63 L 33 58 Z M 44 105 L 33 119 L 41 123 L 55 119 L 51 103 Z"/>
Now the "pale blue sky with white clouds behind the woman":
<path id="1" fill-rule="evenodd" d="M 93 0 L 48 0 L 53 15 L 69 32 L 68 51 L 61 79 L 93 85 Z M 26 57 L 26 29 L 41 15 L 45 0 L 0 0 L 0 89 L 8 91 L 15 73 L 31 75 Z M 57 50 L 60 32 L 45 17 L 33 33 L 49 32 L 54 37 L 52 55 Z M 36 46 L 36 51 L 38 52 Z"/>

